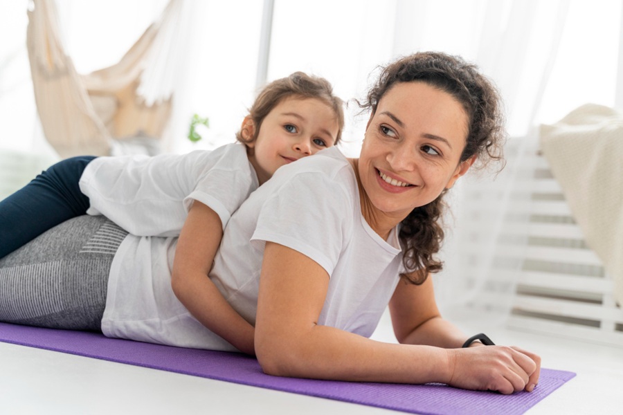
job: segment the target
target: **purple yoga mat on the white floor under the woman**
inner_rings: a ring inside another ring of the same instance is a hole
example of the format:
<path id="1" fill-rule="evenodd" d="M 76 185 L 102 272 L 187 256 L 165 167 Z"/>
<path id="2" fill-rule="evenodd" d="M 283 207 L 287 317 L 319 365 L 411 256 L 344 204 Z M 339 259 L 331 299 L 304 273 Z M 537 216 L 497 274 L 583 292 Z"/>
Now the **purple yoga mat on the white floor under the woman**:
<path id="1" fill-rule="evenodd" d="M 523 414 L 575 376 L 568 371 L 541 369 L 539 385 L 532 393 L 502 395 L 439 384 L 401 385 L 280 378 L 263 374 L 255 358 L 238 353 L 111 339 L 83 331 L 0 323 L 0 341 L 413 414 Z"/>

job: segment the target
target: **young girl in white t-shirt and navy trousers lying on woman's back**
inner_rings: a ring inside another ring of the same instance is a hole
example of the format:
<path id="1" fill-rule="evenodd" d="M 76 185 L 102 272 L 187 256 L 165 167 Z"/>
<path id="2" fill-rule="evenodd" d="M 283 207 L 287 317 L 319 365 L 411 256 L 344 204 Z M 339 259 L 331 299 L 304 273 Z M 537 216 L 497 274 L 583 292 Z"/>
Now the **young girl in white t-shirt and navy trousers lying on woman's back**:
<path id="1" fill-rule="evenodd" d="M 329 82 L 297 72 L 266 86 L 244 118 L 238 142 L 215 151 L 63 160 L 0 202 L 0 257 L 87 213 L 112 222 L 85 248 L 93 254 L 114 253 L 125 232 L 179 235 L 173 282 L 180 301 L 210 327 L 216 314 L 205 313 L 205 304 L 226 308 L 228 318 L 219 319 L 222 326 L 213 331 L 252 353 L 252 327 L 206 277 L 223 230 L 242 201 L 276 169 L 337 144 L 343 119 L 342 101 Z M 208 293 L 201 307 L 194 297 L 186 304 L 197 287 Z"/>

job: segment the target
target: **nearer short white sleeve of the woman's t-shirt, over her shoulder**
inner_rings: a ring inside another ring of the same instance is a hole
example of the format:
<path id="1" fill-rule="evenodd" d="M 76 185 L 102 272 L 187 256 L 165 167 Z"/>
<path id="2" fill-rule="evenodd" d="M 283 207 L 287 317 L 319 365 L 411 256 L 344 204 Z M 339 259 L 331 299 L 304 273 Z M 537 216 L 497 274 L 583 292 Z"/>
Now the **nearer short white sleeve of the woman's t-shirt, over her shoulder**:
<path id="1" fill-rule="evenodd" d="M 251 238 L 294 249 L 332 275 L 352 233 L 352 192 L 320 173 L 303 173 L 280 186 L 264 202 Z"/>

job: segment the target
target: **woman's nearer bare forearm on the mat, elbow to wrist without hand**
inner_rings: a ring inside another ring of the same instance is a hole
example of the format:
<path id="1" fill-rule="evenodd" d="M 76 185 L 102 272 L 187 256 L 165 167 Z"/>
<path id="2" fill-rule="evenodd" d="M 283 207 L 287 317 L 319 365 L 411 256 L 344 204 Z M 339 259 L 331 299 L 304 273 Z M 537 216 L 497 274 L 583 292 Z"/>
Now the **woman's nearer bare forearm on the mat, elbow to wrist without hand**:
<path id="1" fill-rule="evenodd" d="M 377 342 L 318 325 L 300 337 L 286 331 L 258 334 L 260 365 L 276 376 L 399 383 L 451 379 L 449 354 L 437 347 Z"/>

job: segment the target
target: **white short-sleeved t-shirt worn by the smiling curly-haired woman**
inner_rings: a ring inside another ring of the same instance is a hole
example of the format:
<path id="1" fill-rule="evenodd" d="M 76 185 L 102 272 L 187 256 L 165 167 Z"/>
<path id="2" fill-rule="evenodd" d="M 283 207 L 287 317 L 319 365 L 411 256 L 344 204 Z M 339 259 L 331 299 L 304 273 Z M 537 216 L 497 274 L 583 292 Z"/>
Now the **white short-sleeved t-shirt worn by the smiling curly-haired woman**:
<path id="1" fill-rule="evenodd" d="M 330 275 L 318 324 L 366 337 L 373 333 L 402 270 L 397 228 L 383 241 L 365 222 L 352 166 L 338 149 L 281 167 L 229 221 L 210 278 L 251 323 L 265 241 L 302 252 Z M 176 243 L 174 238 L 125 239 L 112 264 L 102 331 L 181 347 L 235 350 L 199 324 L 172 292 Z"/>

